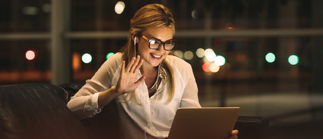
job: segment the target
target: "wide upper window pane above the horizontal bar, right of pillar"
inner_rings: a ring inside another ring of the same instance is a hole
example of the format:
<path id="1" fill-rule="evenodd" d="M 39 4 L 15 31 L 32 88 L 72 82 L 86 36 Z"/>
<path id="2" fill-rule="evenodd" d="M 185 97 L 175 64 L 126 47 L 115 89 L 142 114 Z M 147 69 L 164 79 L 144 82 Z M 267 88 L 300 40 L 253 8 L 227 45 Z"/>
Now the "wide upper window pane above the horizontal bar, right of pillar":
<path id="1" fill-rule="evenodd" d="M 134 12 L 146 4 L 164 4 L 172 10 L 177 29 L 257 29 L 319 27 L 320 2 L 312 1 L 72 1 L 72 31 L 128 30 Z M 314 5 L 314 6 L 313 6 Z M 318 8 L 318 9 L 313 9 Z M 314 15 L 313 15 L 314 14 Z"/>

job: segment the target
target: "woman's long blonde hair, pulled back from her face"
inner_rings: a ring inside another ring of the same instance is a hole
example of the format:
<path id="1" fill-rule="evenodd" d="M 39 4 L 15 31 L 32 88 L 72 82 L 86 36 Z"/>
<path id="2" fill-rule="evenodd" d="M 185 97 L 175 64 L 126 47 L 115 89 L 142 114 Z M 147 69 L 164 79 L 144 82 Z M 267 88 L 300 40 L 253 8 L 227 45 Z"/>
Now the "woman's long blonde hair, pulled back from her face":
<path id="1" fill-rule="evenodd" d="M 134 50 L 135 45 L 132 40 L 132 35 L 138 37 L 140 35 L 140 33 L 142 31 L 146 30 L 147 28 L 155 28 L 155 27 L 170 27 L 173 29 L 173 31 L 175 33 L 175 22 L 174 22 L 173 15 L 172 15 L 171 11 L 168 8 L 166 8 L 165 6 L 160 5 L 160 4 L 149 4 L 149 5 L 145 5 L 145 6 L 141 7 L 135 13 L 135 15 L 133 16 L 133 18 L 130 21 L 128 42 L 120 50 L 120 52 L 122 53 L 122 60 L 125 61 L 126 66 L 135 55 L 135 50 Z M 172 52 L 170 52 L 169 55 L 174 55 L 174 54 L 172 54 Z M 161 67 L 164 68 L 164 70 L 166 72 L 166 73 L 161 72 L 161 74 L 164 79 L 167 79 L 167 81 L 165 81 L 163 85 L 165 85 L 166 82 L 168 82 L 168 84 L 169 84 L 168 100 L 165 103 L 165 104 L 168 104 L 172 101 L 172 99 L 174 97 L 174 93 L 175 93 L 174 75 L 173 75 L 170 65 L 168 64 L 168 62 L 165 59 L 162 60 Z M 129 102 L 133 97 L 136 98 L 135 96 L 136 96 L 135 91 L 133 91 L 131 93 L 130 99 L 126 100 L 125 102 Z M 135 101 L 138 103 L 137 99 L 135 99 Z"/>

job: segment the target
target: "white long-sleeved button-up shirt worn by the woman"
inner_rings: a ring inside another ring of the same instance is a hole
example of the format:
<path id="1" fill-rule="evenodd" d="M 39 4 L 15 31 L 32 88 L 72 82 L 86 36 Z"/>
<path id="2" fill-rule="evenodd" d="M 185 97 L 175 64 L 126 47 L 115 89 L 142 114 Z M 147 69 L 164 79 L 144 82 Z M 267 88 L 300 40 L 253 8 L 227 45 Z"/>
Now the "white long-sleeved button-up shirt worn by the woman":
<path id="1" fill-rule="evenodd" d="M 87 80 L 86 84 L 71 97 L 67 106 L 72 112 L 75 112 L 83 118 L 93 117 L 101 112 L 98 108 L 99 93 L 117 84 L 120 77 L 121 56 L 121 53 L 111 55 L 92 79 Z M 120 116 L 121 138 L 145 138 L 144 132 L 150 123 L 151 125 L 146 130 L 147 138 L 168 137 L 177 108 L 201 107 L 198 101 L 198 90 L 191 65 L 171 55 L 168 55 L 166 60 L 174 74 L 175 94 L 172 101 L 165 105 L 168 100 L 169 84 L 166 82 L 163 86 L 164 79 L 161 80 L 157 90 L 158 93 L 155 93 L 150 98 L 147 86 L 143 81 L 135 90 L 136 98 L 132 98 L 127 103 L 117 102 Z M 136 80 L 141 76 L 139 70 Z M 122 100 L 125 96 L 125 94 L 121 95 L 115 100 Z M 131 94 L 128 95 L 128 98 L 130 96 Z M 134 99 L 137 99 L 140 105 Z M 152 118 L 153 120 L 151 122 Z"/>

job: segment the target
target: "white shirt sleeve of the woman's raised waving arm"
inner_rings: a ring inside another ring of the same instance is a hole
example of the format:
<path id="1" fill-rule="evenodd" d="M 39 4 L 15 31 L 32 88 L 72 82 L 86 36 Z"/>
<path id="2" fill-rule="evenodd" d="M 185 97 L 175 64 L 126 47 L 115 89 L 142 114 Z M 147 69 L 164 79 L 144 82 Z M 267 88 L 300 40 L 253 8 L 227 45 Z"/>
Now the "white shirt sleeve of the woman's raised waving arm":
<path id="1" fill-rule="evenodd" d="M 68 102 L 67 107 L 80 119 L 93 117 L 101 112 L 98 106 L 99 93 L 111 88 L 113 74 L 118 67 L 117 57 L 117 54 L 111 55 Z"/>

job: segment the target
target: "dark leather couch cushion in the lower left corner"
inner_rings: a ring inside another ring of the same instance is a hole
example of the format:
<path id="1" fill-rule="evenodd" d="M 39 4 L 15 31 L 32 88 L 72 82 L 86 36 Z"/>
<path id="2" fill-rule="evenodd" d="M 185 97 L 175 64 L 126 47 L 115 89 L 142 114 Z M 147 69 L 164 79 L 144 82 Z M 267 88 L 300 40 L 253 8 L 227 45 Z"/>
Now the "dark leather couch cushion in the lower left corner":
<path id="1" fill-rule="evenodd" d="M 0 138 L 87 138 L 62 93 L 48 84 L 0 86 Z"/>

